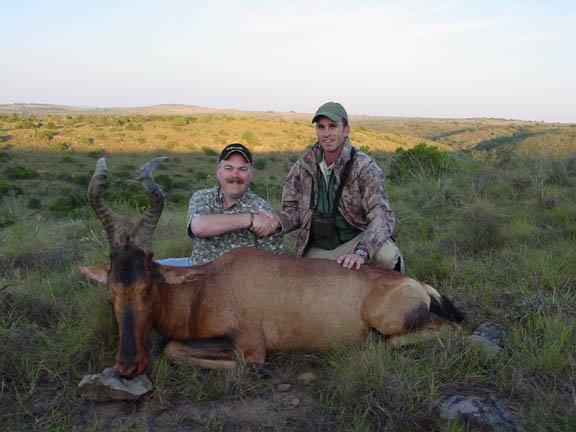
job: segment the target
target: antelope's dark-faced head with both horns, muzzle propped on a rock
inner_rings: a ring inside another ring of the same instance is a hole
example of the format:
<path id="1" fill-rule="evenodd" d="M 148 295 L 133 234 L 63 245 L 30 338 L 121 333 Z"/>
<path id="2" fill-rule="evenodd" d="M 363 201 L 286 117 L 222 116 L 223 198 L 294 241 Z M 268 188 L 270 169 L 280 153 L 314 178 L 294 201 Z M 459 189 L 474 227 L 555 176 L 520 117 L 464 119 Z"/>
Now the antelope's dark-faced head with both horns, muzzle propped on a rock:
<path id="1" fill-rule="evenodd" d="M 152 172 L 164 159 L 159 157 L 140 167 L 140 185 L 149 204 L 136 224 L 117 215 L 104 202 L 108 175 L 104 158 L 98 160 L 88 186 L 90 206 L 108 236 L 110 265 L 79 270 L 105 284 L 112 295 L 119 332 L 116 373 L 121 377 L 139 375 L 149 363 L 146 342 L 152 328 L 155 294 L 152 238 L 164 208 L 164 194 L 152 178 Z"/>

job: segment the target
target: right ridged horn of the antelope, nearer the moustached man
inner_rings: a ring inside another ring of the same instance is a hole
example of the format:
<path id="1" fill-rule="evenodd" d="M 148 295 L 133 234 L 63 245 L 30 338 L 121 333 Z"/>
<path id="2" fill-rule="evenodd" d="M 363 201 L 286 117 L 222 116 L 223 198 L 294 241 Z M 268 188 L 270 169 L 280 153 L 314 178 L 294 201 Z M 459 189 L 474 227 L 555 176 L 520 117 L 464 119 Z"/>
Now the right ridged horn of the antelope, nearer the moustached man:
<path id="1" fill-rule="evenodd" d="M 142 218 L 132 230 L 134 243 L 144 250 L 152 250 L 152 237 L 156 224 L 160 219 L 164 209 L 164 192 L 162 188 L 152 178 L 152 172 L 156 166 L 167 157 L 157 157 L 140 167 L 140 185 L 148 196 L 148 207 L 144 211 Z"/>

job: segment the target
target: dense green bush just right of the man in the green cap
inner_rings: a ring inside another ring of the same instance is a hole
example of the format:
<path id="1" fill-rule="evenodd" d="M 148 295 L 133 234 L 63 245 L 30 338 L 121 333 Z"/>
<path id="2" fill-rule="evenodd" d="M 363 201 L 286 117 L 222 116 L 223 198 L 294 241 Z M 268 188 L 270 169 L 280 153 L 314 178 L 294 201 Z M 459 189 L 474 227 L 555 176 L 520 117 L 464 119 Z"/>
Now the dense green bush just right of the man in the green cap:
<path id="1" fill-rule="evenodd" d="M 390 163 L 388 175 L 391 179 L 401 180 L 424 176 L 438 176 L 450 173 L 459 167 L 458 160 L 449 153 L 424 143 L 409 150 L 396 149 L 396 156 Z"/>

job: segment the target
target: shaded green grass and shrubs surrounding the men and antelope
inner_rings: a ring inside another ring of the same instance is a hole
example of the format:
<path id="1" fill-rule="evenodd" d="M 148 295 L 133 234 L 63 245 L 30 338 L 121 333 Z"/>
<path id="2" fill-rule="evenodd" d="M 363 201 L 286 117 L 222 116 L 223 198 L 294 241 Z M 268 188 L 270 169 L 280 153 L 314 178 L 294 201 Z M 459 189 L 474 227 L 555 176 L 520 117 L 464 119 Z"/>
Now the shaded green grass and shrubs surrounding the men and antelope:
<path id="1" fill-rule="evenodd" d="M 13 136 L 13 130 L 3 134 Z M 107 293 L 75 270 L 108 254 L 83 195 L 95 158 L 80 151 L 4 149 L 0 424 L 15 431 L 468 430 L 431 409 L 441 397 L 463 393 L 493 395 L 526 430 L 576 429 L 574 166 L 553 154 L 506 147 L 450 154 L 412 147 L 374 157 L 389 174 L 407 272 L 468 312 L 463 335 L 397 350 L 372 335 L 361 346 L 327 353 L 273 353 L 270 367 L 292 384 L 291 396 L 244 371 L 171 365 L 152 338 L 152 395 L 115 407 L 82 401 L 76 391 L 85 374 L 114 363 L 116 348 Z M 108 199 L 136 218 L 144 203 L 131 179 L 150 154 L 104 151 L 116 182 Z M 297 153 L 262 154 L 255 186 L 278 207 Z M 189 253 L 185 202 L 192 190 L 211 184 L 217 158 L 201 149 L 169 156 L 166 170 L 156 173 L 169 196 L 155 233 L 157 257 Z M 6 174 L 15 161 L 21 169 Z M 206 177 L 196 179 L 201 170 Z M 171 187 L 171 181 L 181 183 Z M 505 350 L 496 356 L 466 340 L 487 321 L 508 330 Z M 317 380 L 304 386 L 297 377 L 308 371 Z M 230 415 L 226 409 L 239 401 L 255 414 Z"/>

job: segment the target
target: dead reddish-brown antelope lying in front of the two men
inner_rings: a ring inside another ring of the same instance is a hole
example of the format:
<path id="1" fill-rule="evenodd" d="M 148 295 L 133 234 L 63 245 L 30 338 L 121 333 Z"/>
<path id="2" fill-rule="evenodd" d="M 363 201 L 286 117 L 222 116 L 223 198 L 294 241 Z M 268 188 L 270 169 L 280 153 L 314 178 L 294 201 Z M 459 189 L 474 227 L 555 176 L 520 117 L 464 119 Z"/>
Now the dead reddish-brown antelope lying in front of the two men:
<path id="1" fill-rule="evenodd" d="M 173 361 L 227 368 L 237 360 L 262 365 L 267 350 L 358 342 L 370 328 L 394 343 L 403 335 L 434 334 L 462 320 L 429 285 L 382 268 L 348 270 L 330 260 L 257 249 L 236 249 L 201 266 L 155 263 L 152 237 L 164 195 L 152 171 L 163 159 L 140 168 L 149 206 L 137 224 L 105 204 L 104 159 L 88 187 L 90 205 L 108 235 L 110 264 L 79 270 L 112 294 L 118 375 L 131 377 L 146 369 L 152 328 L 171 341 L 165 353 Z"/>

